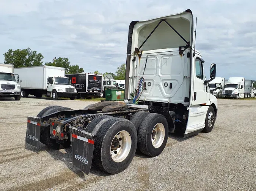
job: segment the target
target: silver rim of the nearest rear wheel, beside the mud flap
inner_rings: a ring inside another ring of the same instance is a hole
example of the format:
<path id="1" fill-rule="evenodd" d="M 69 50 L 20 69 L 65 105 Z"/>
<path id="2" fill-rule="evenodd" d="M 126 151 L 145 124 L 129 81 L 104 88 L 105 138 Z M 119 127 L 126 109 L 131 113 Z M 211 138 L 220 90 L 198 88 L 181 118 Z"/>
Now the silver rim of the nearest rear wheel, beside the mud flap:
<path id="1" fill-rule="evenodd" d="M 127 131 L 119 131 L 110 145 L 110 156 L 115 162 L 122 162 L 130 153 L 132 138 Z"/>

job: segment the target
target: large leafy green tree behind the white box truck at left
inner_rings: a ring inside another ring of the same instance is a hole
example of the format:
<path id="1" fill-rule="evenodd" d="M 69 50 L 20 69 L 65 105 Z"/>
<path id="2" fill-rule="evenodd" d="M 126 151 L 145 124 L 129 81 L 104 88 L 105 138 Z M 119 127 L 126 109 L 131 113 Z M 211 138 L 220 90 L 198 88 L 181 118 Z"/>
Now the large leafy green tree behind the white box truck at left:
<path id="1" fill-rule="evenodd" d="M 30 48 L 26 49 L 9 49 L 4 54 L 5 64 L 13 64 L 14 68 L 40 66 L 43 64 L 44 56 L 41 53 L 32 51 Z"/>

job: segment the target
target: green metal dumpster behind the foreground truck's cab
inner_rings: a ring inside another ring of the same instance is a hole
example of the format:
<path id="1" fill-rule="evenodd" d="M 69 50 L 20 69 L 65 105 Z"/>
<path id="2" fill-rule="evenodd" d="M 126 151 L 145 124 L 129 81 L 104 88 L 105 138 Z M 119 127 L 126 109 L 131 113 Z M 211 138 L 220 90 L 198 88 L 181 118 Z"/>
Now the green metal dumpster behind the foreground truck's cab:
<path id="1" fill-rule="evenodd" d="M 119 87 L 105 87 L 106 101 L 123 101 L 124 89 Z"/>

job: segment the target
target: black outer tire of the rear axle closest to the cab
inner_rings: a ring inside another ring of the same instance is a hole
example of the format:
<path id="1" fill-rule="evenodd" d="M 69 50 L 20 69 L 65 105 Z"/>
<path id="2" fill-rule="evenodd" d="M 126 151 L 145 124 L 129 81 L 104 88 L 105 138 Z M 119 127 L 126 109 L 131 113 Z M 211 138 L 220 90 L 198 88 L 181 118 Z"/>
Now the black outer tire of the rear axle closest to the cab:
<path id="1" fill-rule="evenodd" d="M 163 137 L 162 144 L 155 148 L 152 144 L 152 131 L 157 125 L 157 123 L 162 123 L 165 129 L 165 135 Z M 138 129 L 138 148 L 140 151 L 150 157 L 158 156 L 162 153 L 163 149 L 165 148 L 167 139 L 168 139 L 168 122 L 166 118 L 157 113 L 150 113 L 148 116 L 145 117 L 141 126 Z"/>

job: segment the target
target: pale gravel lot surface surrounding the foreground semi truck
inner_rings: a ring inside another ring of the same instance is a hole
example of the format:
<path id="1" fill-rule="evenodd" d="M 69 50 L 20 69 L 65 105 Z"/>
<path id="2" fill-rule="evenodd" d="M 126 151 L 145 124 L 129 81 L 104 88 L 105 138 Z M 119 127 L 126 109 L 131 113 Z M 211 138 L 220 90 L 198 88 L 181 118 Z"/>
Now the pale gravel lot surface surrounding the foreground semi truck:
<path id="1" fill-rule="evenodd" d="M 108 175 L 72 166 L 71 148 L 27 149 L 27 116 L 49 105 L 81 109 L 92 101 L 0 99 L 0 190 L 256 190 L 256 100 L 219 99 L 212 132 L 182 139 L 170 134 L 158 157 L 137 155 Z"/>

